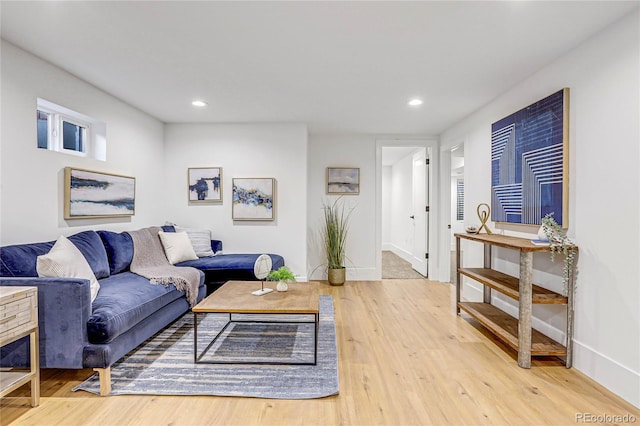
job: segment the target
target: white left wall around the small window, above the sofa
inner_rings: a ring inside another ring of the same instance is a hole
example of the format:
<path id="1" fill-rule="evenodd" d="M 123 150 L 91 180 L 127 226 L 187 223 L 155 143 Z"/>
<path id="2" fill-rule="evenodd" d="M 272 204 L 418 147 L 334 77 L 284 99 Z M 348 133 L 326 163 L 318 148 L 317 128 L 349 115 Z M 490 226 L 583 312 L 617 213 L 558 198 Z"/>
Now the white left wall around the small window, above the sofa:
<path id="1" fill-rule="evenodd" d="M 1 78 L 1 244 L 159 223 L 164 216 L 159 209 L 164 190 L 158 185 L 163 181 L 162 123 L 4 40 Z M 36 148 L 37 97 L 104 121 L 107 161 Z M 135 216 L 64 220 L 66 166 L 135 177 Z"/>

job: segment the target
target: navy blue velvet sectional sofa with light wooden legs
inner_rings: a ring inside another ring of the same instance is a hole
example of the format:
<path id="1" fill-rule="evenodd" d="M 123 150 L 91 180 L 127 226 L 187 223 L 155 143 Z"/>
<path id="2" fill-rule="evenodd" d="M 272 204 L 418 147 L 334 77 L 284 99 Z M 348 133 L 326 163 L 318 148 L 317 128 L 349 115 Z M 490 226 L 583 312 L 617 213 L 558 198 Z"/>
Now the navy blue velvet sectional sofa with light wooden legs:
<path id="1" fill-rule="evenodd" d="M 174 231 L 173 227 L 163 227 Z M 133 241 L 126 233 L 84 231 L 68 237 L 84 255 L 100 283 L 91 302 L 89 280 L 40 278 L 37 256 L 55 241 L 0 247 L 0 285 L 38 288 L 41 368 L 93 368 L 100 375 L 100 391 L 111 391 L 110 368 L 126 353 L 189 310 L 184 291 L 173 285 L 149 283 L 129 271 Z M 211 242 L 214 253 L 222 242 Z M 197 300 L 228 280 L 254 280 L 259 254 L 218 254 L 180 263 L 200 270 Z M 273 269 L 284 265 L 270 254 Z M 207 291 L 207 285 L 210 290 Z M 28 338 L 0 349 L 0 366 L 28 365 Z"/>

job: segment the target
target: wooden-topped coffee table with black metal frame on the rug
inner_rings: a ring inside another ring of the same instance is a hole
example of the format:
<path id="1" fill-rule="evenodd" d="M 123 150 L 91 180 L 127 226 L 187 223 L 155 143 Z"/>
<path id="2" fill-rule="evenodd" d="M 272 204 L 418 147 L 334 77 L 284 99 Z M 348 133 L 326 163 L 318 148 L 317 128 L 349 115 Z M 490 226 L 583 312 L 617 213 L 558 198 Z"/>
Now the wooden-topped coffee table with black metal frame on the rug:
<path id="1" fill-rule="evenodd" d="M 274 286 L 276 283 L 272 283 Z M 290 283 L 289 290 L 273 291 L 262 296 L 254 296 L 252 291 L 260 289 L 259 281 L 228 281 L 218 290 L 193 307 L 193 358 L 195 363 L 207 364 L 297 364 L 316 365 L 318 362 L 318 286 L 313 283 Z M 229 320 L 216 334 L 207 348 L 198 354 L 198 314 L 224 313 Z M 280 361 L 203 361 L 202 357 L 224 333 L 229 325 L 241 322 L 288 323 L 288 321 L 238 320 L 233 314 L 244 315 L 309 315 L 313 321 L 291 321 L 289 323 L 313 323 L 315 326 L 313 362 L 280 362 Z"/>

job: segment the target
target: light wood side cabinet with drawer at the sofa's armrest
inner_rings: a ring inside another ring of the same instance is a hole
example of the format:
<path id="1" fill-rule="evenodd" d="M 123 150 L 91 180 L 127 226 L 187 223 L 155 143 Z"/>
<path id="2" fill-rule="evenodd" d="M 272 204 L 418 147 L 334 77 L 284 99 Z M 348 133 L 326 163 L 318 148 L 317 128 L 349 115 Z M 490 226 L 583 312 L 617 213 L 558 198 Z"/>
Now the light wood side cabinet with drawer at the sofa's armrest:
<path id="1" fill-rule="evenodd" d="M 0 370 L 0 398 L 31 382 L 31 406 L 40 403 L 38 289 L 0 286 L 0 346 L 22 337 L 30 339 L 28 370 Z"/>

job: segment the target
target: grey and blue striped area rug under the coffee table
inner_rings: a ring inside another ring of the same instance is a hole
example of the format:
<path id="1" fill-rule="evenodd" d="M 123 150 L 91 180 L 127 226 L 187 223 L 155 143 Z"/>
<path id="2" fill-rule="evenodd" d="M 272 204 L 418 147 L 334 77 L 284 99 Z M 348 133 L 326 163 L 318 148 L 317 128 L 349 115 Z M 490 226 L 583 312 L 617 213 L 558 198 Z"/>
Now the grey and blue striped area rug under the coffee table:
<path id="1" fill-rule="evenodd" d="M 187 313 L 111 368 L 111 395 L 217 395 L 274 399 L 322 398 L 338 393 L 338 355 L 331 296 L 320 296 L 317 365 L 194 364 L 193 314 Z M 234 315 L 236 320 L 239 316 Z M 266 316 L 260 318 L 264 320 Z M 278 316 L 282 319 L 285 316 Z M 299 318 L 297 318 L 299 317 Z M 228 315 L 198 316 L 198 351 L 211 342 Z M 246 316 L 245 319 L 249 319 Z M 311 317 L 312 318 L 312 317 Z M 252 318 L 255 320 L 255 318 Z M 270 317 L 270 319 L 275 319 Z M 313 360 L 309 316 L 286 316 L 282 324 L 238 323 L 207 351 L 217 360 L 257 362 Z M 203 358 L 205 359 L 205 358 Z M 100 394 L 97 373 L 74 391 Z"/>

